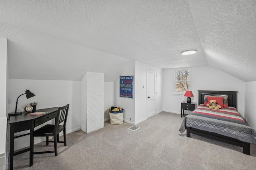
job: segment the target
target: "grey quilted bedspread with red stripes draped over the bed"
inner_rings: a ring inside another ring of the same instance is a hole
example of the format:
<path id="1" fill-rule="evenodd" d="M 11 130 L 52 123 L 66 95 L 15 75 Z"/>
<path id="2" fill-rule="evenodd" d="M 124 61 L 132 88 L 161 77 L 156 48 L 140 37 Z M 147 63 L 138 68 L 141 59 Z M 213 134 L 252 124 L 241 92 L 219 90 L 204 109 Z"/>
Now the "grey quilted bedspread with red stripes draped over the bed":
<path id="1" fill-rule="evenodd" d="M 179 131 L 183 133 L 186 127 L 256 144 L 256 130 L 242 119 L 235 107 L 216 110 L 199 105 L 192 113 L 184 117 Z"/>

